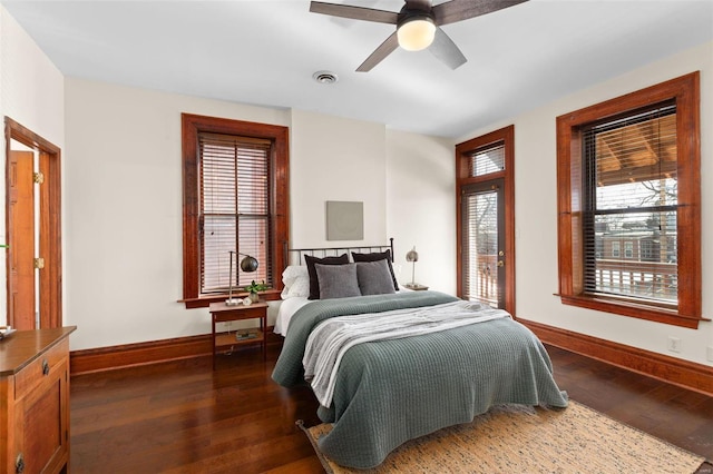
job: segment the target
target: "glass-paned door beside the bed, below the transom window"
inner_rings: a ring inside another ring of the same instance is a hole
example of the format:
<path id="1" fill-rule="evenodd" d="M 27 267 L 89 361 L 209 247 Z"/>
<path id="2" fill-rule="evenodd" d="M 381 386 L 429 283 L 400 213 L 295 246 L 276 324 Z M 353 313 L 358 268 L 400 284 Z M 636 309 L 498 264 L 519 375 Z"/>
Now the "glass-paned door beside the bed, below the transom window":
<path id="1" fill-rule="evenodd" d="M 504 180 L 461 188 L 462 298 L 505 308 Z"/>

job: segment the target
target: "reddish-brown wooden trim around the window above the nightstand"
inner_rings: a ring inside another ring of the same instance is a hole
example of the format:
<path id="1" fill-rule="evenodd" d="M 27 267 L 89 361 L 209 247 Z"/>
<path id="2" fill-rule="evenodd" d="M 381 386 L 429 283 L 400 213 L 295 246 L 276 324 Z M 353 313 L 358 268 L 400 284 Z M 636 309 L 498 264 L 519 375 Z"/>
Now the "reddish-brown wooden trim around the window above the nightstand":
<path id="1" fill-rule="evenodd" d="M 199 296 L 199 182 L 198 182 L 198 134 L 225 134 L 257 137 L 272 140 L 272 263 L 274 287 L 265 292 L 266 299 L 279 299 L 282 290 L 281 275 L 285 268 L 284 248 L 290 235 L 290 155 L 289 128 L 225 118 L 182 113 L 183 144 L 183 299 L 186 308 L 207 307 L 227 295 Z"/>

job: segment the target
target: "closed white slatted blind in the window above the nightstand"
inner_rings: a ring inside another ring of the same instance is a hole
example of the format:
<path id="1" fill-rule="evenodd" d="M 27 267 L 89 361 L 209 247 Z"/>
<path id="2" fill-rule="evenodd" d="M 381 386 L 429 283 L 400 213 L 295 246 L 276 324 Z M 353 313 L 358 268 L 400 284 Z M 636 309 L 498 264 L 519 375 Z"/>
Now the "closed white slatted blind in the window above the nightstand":
<path id="1" fill-rule="evenodd" d="M 201 294 L 225 293 L 252 280 L 272 285 L 270 253 L 270 164 L 272 141 L 229 135 L 198 135 Z M 257 271 L 240 271 L 243 255 Z"/>

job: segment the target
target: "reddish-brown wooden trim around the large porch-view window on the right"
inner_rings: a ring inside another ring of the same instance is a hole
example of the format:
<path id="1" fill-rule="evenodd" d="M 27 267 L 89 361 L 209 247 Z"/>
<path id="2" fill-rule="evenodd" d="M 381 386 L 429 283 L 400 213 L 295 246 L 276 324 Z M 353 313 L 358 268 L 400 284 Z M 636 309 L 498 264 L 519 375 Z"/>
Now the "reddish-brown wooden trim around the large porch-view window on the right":
<path id="1" fill-rule="evenodd" d="M 701 125 L 700 72 L 627 93 L 557 117 L 557 207 L 559 296 L 566 305 L 579 306 L 681 327 L 697 328 L 701 316 Z M 579 129 L 590 122 L 674 100 L 678 152 L 678 304 L 677 308 L 647 305 L 627 298 L 585 295 L 582 284 L 582 250 L 573 241 L 576 216 L 582 211 L 574 196 L 582 196 L 577 164 L 582 162 Z M 573 174 L 574 171 L 574 174 Z"/>

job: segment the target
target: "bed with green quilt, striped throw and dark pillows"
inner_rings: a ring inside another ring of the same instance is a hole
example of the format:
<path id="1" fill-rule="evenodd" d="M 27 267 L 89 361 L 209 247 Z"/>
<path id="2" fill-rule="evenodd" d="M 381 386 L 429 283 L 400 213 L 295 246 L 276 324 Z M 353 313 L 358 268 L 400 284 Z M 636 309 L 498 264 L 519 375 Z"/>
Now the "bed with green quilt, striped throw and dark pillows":
<path id="1" fill-rule="evenodd" d="M 328 273 L 315 264 L 319 283 L 371 268 L 354 261 L 359 251 L 351 254 L 349 264 L 330 264 L 343 268 Z M 358 258 L 381 261 L 380 255 L 390 258 L 392 244 Z M 286 309 L 275 324 L 285 339 L 272 376 L 285 387 L 310 381 L 320 419 L 333 424 L 320 450 L 334 462 L 374 467 L 406 441 L 469 423 L 494 405 L 567 406 L 543 344 L 507 313 L 439 292 L 403 290 L 390 261 L 393 290 L 310 298 L 305 269 L 291 267 L 283 278 Z M 379 278 L 383 287 L 387 277 Z M 302 288 L 290 295 L 295 285 Z"/>

